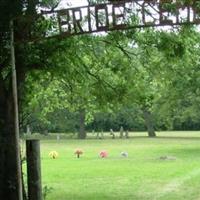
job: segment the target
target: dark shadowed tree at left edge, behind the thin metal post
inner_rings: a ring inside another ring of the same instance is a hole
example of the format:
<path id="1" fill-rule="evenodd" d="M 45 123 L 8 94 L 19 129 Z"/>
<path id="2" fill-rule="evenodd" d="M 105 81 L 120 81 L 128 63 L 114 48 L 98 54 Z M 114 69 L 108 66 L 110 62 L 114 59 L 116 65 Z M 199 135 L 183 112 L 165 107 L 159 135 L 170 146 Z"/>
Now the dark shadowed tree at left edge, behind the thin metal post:
<path id="1" fill-rule="evenodd" d="M 44 28 L 46 28 L 39 27 L 41 18 L 36 15 L 38 1 L 2 1 L 0 5 L 0 199 L 14 200 L 18 199 L 18 178 L 16 177 L 14 104 L 8 48 L 10 20 L 15 19 L 16 72 L 19 94 L 23 93 L 22 88 L 26 72 L 36 68 L 44 68 L 45 64 L 47 66 L 49 64 L 47 63 L 47 57 L 52 54 L 53 49 L 58 48 L 59 44 L 55 45 L 49 41 L 37 44 L 19 42 L 28 41 L 32 36 L 31 34 L 42 35 Z M 22 16 L 28 20 L 21 20 L 24 19 L 21 18 Z"/>

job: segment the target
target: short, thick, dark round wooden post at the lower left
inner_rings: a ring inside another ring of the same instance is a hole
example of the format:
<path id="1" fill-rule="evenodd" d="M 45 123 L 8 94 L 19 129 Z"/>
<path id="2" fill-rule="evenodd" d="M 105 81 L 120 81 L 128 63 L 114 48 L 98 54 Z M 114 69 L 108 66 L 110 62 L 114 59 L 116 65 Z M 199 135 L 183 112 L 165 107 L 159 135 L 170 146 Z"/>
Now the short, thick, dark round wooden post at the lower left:
<path id="1" fill-rule="evenodd" d="M 42 200 L 40 141 L 26 141 L 28 199 Z"/>

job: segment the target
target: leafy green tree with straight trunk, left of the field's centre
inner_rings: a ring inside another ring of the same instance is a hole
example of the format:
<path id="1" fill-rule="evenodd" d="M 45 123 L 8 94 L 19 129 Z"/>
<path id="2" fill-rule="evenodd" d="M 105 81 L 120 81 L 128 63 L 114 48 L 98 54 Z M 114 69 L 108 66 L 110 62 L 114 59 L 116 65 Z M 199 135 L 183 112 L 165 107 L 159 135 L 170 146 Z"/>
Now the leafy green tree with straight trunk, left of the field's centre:
<path id="1" fill-rule="evenodd" d="M 55 109 L 79 112 L 79 138 L 85 139 L 85 122 L 91 118 L 89 116 L 102 107 L 109 108 L 118 101 L 117 98 L 122 98 L 123 91 L 119 91 L 124 83 L 119 81 L 121 77 L 113 70 L 122 61 L 117 59 L 119 55 L 115 55 L 114 51 L 111 55 L 107 54 L 105 49 L 109 47 L 102 40 L 102 37 L 94 36 L 75 39 L 70 48 L 66 46 L 62 52 L 55 52 L 49 58 L 54 63 L 51 74 L 31 73 L 26 82 L 30 89 L 25 99 L 29 103 L 26 106 L 25 101 L 24 111 L 31 113 L 37 104 L 41 104 L 38 117 L 42 121 Z M 35 83 L 34 77 L 40 77 L 40 80 Z"/>

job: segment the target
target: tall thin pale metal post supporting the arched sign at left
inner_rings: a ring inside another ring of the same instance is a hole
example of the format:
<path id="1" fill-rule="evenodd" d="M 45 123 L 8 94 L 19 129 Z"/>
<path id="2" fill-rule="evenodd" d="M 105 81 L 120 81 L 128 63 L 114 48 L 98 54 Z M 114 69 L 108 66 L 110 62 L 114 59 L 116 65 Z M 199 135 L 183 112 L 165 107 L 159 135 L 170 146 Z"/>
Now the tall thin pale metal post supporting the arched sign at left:
<path id="1" fill-rule="evenodd" d="M 18 198 L 23 200 L 22 193 L 22 172 L 21 172 L 21 160 L 20 160 L 20 146 L 19 146 L 19 117 L 18 117 L 18 97 L 17 97 L 17 75 L 15 67 L 15 47 L 14 47 L 14 27 L 13 21 L 10 21 L 10 51 L 11 51 L 11 66 L 12 66 L 12 90 L 13 90 L 13 102 L 14 102 L 14 123 L 15 123 L 15 148 L 16 148 L 16 166 L 17 166 L 17 189 Z"/>

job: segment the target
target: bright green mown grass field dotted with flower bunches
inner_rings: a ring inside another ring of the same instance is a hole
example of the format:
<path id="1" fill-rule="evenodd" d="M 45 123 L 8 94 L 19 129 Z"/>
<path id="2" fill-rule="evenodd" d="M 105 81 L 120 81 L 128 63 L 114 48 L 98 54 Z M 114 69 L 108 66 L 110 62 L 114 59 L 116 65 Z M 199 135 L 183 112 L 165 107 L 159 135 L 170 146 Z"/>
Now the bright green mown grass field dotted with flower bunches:
<path id="1" fill-rule="evenodd" d="M 133 135 L 42 140 L 42 182 L 53 188 L 47 200 L 200 200 L 200 132 L 165 132 L 158 138 Z M 79 159 L 74 155 L 77 148 L 84 151 Z M 59 153 L 57 159 L 49 158 L 53 150 Z M 101 150 L 109 156 L 99 158 Z M 128 158 L 120 157 L 122 151 Z"/>

